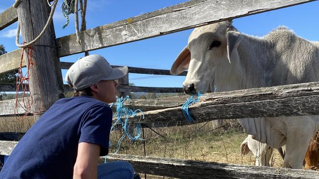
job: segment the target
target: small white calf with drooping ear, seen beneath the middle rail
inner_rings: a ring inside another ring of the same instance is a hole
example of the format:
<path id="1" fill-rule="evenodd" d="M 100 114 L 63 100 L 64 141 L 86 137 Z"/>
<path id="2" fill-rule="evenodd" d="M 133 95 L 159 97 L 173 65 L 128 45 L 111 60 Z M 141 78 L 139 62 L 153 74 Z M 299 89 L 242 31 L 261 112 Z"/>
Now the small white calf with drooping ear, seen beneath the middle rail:
<path id="1" fill-rule="evenodd" d="M 252 138 L 252 135 L 248 135 L 240 145 L 240 152 L 246 155 L 249 151 L 254 154 L 256 166 L 270 166 L 269 160 L 273 149 L 269 145 L 258 142 Z"/>

